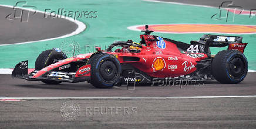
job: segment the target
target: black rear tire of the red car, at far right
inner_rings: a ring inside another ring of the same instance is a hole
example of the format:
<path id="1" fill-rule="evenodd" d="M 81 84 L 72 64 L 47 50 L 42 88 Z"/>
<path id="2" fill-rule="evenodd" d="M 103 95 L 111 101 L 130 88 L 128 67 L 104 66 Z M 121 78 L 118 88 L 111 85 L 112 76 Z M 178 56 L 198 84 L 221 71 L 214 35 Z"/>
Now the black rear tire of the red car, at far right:
<path id="1" fill-rule="evenodd" d="M 239 83 L 247 72 L 247 58 L 237 50 L 220 51 L 211 63 L 211 74 L 220 83 Z"/>

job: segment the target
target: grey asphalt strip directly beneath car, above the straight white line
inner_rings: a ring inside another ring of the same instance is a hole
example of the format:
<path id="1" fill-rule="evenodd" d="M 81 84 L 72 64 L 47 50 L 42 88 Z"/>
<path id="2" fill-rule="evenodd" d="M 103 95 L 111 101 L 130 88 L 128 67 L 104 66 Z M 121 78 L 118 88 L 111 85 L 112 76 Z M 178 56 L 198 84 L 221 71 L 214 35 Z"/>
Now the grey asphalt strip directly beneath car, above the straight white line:
<path id="1" fill-rule="evenodd" d="M 87 82 L 46 85 L 13 79 L 11 75 L 0 75 L 2 97 L 170 97 L 170 96 L 235 96 L 256 95 L 256 72 L 247 74 L 239 84 L 220 84 L 217 81 L 204 85 L 176 86 L 127 86 L 113 89 L 97 89 Z"/>

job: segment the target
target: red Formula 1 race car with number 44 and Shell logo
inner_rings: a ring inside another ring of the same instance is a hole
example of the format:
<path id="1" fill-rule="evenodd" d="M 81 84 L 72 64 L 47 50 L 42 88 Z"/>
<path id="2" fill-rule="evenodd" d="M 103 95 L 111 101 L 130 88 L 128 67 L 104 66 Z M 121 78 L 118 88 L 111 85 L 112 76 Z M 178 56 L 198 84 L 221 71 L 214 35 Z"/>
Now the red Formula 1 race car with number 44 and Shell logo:
<path id="1" fill-rule="evenodd" d="M 47 84 L 88 81 L 96 88 L 112 88 L 122 83 L 149 83 L 154 78 L 211 79 L 239 83 L 247 75 L 247 43 L 242 37 L 206 34 L 190 44 L 151 35 L 142 30 L 140 43 L 114 41 L 106 51 L 67 58 L 59 49 L 43 51 L 28 74 L 28 61 L 19 62 L 12 76 Z M 228 50 L 211 55 L 209 47 Z"/>

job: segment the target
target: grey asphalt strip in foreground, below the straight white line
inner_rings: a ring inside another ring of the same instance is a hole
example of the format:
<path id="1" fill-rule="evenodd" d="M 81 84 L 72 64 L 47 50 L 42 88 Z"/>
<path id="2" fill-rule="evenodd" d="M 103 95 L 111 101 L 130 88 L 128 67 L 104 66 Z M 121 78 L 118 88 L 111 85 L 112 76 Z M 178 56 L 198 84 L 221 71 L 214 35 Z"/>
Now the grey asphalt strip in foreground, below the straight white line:
<path id="1" fill-rule="evenodd" d="M 255 101 L 254 97 L 0 102 L 0 128 L 255 128 Z M 63 115 L 65 103 L 76 104 L 76 115 Z"/>

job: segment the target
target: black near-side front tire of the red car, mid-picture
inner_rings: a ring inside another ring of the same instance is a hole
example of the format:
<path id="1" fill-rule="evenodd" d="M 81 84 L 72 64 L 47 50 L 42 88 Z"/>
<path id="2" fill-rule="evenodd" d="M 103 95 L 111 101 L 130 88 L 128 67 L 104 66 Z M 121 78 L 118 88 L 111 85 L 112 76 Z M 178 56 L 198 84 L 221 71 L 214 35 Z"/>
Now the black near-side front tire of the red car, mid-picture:
<path id="1" fill-rule="evenodd" d="M 96 88 L 112 88 L 120 81 L 120 62 L 111 54 L 97 53 L 88 61 L 90 83 Z"/>

